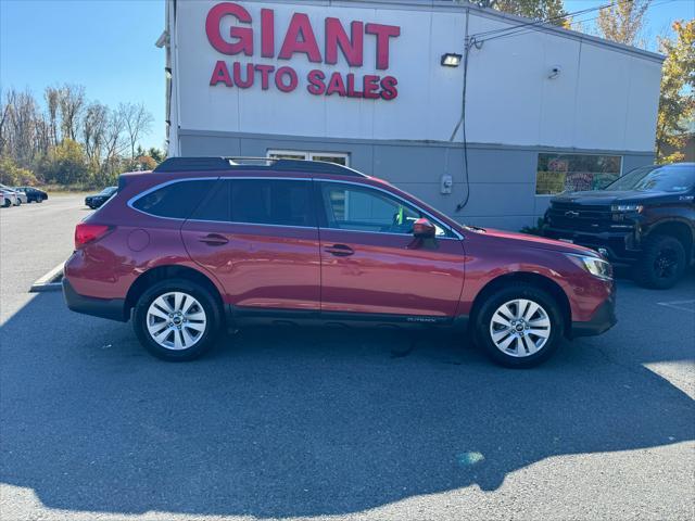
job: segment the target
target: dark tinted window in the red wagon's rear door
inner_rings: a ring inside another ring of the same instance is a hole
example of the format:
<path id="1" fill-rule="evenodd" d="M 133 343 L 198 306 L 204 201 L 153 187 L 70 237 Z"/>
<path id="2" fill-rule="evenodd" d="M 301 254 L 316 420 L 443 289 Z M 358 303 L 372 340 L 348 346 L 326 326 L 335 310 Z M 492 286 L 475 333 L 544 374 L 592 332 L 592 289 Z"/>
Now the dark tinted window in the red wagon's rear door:
<path id="1" fill-rule="evenodd" d="M 255 225 L 316 226 L 312 181 L 235 179 L 231 220 Z"/>

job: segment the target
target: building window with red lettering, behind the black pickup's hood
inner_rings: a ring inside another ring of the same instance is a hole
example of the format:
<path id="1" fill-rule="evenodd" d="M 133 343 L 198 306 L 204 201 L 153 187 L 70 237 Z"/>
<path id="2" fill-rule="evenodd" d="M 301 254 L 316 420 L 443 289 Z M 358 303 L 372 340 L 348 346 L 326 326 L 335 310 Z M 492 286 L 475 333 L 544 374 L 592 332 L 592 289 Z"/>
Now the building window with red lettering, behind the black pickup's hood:
<path id="1" fill-rule="evenodd" d="M 564 191 L 601 190 L 618 179 L 622 156 L 593 154 L 539 154 L 536 195 Z"/>

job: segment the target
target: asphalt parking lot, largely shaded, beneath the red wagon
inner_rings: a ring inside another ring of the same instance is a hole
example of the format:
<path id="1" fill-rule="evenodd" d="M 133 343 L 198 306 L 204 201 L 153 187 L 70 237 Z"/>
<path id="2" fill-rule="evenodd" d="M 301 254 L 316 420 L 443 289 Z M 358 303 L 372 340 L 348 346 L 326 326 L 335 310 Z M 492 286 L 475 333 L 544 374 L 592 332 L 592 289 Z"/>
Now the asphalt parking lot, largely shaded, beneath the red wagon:
<path id="1" fill-rule="evenodd" d="M 695 277 L 544 366 L 448 333 L 245 330 L 167 364 L 29 294 L 81 198 L 0 211 L 3 520 L 695 517 Z"/>

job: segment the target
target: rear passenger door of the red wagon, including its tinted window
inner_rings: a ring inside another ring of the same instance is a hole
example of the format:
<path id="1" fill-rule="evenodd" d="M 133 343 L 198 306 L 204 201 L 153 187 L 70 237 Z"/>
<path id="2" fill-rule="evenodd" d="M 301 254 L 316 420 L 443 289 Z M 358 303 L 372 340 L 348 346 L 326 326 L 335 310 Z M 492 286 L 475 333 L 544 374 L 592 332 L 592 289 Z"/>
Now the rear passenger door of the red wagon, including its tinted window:
<path id="1" fill-rule="evenodd" d="M 318 312 L 320 259 L 312 181 L 220 179 L 181 229 L 235 313 Z"/>

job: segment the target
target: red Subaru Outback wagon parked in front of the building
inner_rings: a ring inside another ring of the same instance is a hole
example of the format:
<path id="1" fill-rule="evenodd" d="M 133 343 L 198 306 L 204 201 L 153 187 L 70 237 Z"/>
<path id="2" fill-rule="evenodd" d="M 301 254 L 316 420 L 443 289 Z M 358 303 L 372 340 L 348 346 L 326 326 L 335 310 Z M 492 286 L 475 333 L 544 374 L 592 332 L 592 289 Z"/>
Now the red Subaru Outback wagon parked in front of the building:
<path id="1" fill-rule="evenodd" d="M 610 264 L 586 247 L 462 226 L 331 163 L 175 157 L 124 174 L 75 230 L 67 306 L 127 321 L 188 360 L 223 328 L 463 326 L 507 366 L 616 323 Z"/>

